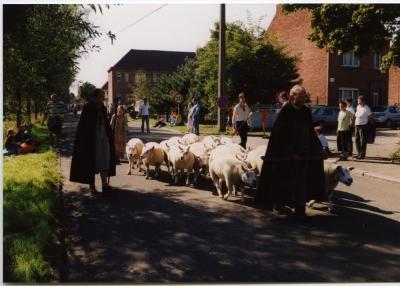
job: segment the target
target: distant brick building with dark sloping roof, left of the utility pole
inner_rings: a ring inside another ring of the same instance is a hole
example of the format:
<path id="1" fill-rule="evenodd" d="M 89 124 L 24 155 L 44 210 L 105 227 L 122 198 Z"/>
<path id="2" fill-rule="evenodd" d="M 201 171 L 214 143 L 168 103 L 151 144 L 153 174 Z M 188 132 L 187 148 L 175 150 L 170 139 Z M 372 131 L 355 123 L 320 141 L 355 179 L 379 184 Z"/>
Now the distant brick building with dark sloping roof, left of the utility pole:
<path id="1" fill-rule="evenodd" d="M 144 75 L 153 85 L 160 75 L 175 72 L 186 58 L 194 57 L 195 53 L 191 52 L 130 50 L 108 70 L 108 107 L 117 97 L 123 104 L 129 103 L 139 76 Z"/>

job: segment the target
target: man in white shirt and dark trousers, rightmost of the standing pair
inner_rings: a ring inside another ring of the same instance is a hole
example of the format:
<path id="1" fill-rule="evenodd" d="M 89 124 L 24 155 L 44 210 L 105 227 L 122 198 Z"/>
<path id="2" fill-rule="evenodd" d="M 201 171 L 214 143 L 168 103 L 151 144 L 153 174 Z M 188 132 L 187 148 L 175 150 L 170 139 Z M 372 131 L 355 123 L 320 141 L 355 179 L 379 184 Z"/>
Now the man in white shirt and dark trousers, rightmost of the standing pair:
<path id="1" fill-rule="evenodd" d="M 356 126 L 356 148 L 358 155 L 357 159 L 364 159 L 367 152 L 367 124 L 372 120 L 372 112 L 368 105 L 365 104 L 365 97 L 358 97 L 357 111 L 354 116 Z"/>

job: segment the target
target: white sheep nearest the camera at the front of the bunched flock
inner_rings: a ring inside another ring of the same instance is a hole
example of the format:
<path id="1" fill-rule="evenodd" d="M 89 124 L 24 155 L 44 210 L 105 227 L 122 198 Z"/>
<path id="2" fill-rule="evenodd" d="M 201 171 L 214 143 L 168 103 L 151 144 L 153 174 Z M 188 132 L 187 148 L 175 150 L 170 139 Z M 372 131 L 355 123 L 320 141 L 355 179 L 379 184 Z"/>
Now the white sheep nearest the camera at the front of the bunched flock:
<path id="1" fill-rule="evenodd" d="M 209 172 L 221 198 L 226 200 L 232 191 L 235 191 L 236 194 L 244 184 L 253 185 L 256 181 L 254 170 L 247 168 L 243 161 L 234 156 L 218 156 L 218 154 L 213 156 L 216 157 L 212 160 L 210 158 Z M 224 196 L 222 196 L 223 183 L 226 184 L 228 189 Z"/>

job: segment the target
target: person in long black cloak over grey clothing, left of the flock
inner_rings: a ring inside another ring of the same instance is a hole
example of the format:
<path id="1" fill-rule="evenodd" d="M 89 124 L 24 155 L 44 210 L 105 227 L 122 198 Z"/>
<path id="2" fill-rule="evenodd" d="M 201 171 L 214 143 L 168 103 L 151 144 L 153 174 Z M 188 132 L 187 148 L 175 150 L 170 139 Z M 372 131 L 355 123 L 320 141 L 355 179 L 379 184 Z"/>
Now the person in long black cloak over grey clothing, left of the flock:
<path id="1" fill-rule="evenodd" d="M 83 107 L 75 136 L 70 181 L 89 184 L 93 193 L 95 174 L 100 173 L 102 191 L 111 191 L 107 179 L 115 176 L 114 136 L 104 106 L 104 92 L 96 89 Z"/>

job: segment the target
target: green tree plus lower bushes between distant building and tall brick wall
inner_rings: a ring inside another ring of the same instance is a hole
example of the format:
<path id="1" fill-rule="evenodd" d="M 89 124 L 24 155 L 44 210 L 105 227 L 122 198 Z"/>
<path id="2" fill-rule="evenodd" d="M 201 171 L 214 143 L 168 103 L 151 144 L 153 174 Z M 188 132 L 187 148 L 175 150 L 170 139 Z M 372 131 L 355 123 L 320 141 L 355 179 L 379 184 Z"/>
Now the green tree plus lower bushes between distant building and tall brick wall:
<path id="1" fill-rule="evenodd" d="M 211 39 L 197 50 L 195 60 L 187 60 L 177 72 L 160 78 L 153 90 L 156 106 L 163 112 L 176 106 L 173 95 L 185 97 L 184 106 L 191 98 L 200 99 L 210 110 L 209 119 L 217 116 L 218 93 L 218 30 L 211 31 Z M 240 22 L 228 23 L 226 30 L 227 95 L 235 101 L 244 91 L 250 103 L 270 102 L 273 94 L 288 88 L 298 77 L 296 58 L 264 39 L 264 30 Z M 154 105 L 154 103 L 153 103 Z"/>

